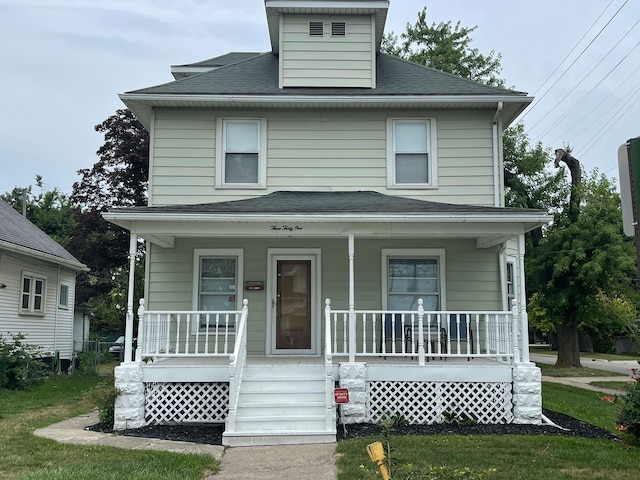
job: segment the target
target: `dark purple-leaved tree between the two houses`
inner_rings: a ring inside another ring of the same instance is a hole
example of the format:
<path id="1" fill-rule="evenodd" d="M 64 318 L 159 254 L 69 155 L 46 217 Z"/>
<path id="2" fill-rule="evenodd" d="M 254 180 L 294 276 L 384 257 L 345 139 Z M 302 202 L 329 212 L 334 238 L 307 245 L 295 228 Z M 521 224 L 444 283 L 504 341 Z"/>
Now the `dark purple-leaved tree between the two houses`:
<path id="1" fill-rule="evenodd" d="M 78 301 L 95 304 L 96 317 L 103 314 L 99 322 L 121 328 L 119 308 L 127 286 L 120 280 L 129 271 L 129 234 L 101 214 L 113 207 L 146 205 L 149 134 L 127 109 L 117 110 L 95 130 L 104 134 L 104 144 L 96 152 L 98 161 L 78 171 L 82 178 L 73 185 L 77 226 L 68 246 L 91 269 L 78 276 Z M 139 245 L 138 260 L 143 254 Z"/>

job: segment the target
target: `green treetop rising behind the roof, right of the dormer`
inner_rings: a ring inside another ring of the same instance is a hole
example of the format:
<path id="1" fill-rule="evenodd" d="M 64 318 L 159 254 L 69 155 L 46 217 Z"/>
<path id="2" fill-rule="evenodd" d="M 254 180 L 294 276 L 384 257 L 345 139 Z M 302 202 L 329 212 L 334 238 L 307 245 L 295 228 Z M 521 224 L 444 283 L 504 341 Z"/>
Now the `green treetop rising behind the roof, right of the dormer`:
<path id="1" fill-rule="evenodd" d="M 401 42 L 393 32 L 385 35 L 381 49 L 390 55 L 448 72 L 486 85 L 504 86 L 498 77 L 502 70 L 501 55 L 493 50 L 482 55 L 471 47 L 470 34 L 476 27 L 461 27 L 449 22 L 427 24 L 427 7 L 418 12 L 415 25 L 407 23 L 400 34 Z"/>

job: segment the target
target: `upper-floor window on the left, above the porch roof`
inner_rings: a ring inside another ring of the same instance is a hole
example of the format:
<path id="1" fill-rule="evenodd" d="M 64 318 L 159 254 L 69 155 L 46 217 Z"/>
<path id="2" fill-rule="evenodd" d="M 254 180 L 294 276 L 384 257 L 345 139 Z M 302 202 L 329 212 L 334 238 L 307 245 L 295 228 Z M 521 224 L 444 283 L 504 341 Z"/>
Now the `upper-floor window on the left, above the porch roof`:
<path id="1" fill-rule="evenodd" d="M 217 130 L 216 186 L 264 187 L 266 120 L 220 119 Z"/>

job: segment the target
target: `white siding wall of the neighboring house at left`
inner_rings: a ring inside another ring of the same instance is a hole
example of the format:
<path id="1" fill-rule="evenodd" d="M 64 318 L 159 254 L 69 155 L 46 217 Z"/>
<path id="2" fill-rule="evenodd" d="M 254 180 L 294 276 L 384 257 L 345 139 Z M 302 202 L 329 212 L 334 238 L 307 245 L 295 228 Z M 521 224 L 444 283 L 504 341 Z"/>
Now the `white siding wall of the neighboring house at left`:
<path id="1" fill-rule="evenodd" d="M 44 314 L 22 314 L 22 274 L 33 272 L 46 277 Z M 70 359 L 73 347 L 73 308 L 75 272 L 25 255 L 0 252 L 0 278 L 6 288 L 0 290 L 0 334 L 22 333 L 25 342 L 41 347 L 45 355 L 56 350 L 60 358 Z M 59 283 L 58 283 L 59 279 Z M 69 285 L 69 308 L 58 307 L 59 285 Z"/>

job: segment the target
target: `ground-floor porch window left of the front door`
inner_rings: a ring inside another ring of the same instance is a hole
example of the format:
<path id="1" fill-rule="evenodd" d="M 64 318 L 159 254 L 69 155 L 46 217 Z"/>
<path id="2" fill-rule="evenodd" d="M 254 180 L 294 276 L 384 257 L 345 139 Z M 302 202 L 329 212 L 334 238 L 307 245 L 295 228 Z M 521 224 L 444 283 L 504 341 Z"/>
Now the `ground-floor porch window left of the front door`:
<path id="1" fill-rule="evenodd" d="M 241 299 L 238 292 L 242 284 L 242 250 L 196 250 L 194 271 L 197 285 L 194 299 L 196 310 L 201 312 L 228 312 L 240 310 Z M 235 317 L 230 317 L 229 326 L 235 327 Z M 204 330 L 207 321 L 211 327 L 215 323 L 212 315 L 201 314 L 199 328 Z M 224 317 L 219 317 L 219 326 L 225 326 Z"/>

